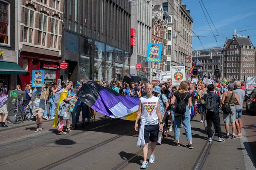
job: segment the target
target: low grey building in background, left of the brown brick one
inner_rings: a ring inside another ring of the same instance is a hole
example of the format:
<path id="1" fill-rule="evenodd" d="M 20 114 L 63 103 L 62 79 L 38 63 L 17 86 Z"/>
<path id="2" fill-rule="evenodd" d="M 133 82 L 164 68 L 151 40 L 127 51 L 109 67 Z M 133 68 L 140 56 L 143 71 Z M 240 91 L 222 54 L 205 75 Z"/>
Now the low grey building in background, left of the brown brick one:
<path id="1" fill-rule="evenodd" d="M 222 77 L 222 61 L 223 61 L 223 48 L 209 48 L 206 50 L 194 50 L 192 51 L 192 63 L 199 60 L 202 63 L 202 67 L 198 69 L 199 78 L 207 77 L 219 69 L 220 76 Z"/>

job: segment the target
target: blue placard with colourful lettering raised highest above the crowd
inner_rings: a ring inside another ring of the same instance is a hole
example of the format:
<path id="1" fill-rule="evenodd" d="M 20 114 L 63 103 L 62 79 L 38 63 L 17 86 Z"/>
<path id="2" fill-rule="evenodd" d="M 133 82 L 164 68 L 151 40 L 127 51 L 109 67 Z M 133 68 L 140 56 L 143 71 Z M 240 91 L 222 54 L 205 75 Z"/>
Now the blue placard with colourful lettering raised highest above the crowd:
<path id="1" fill-rule="evenodd" d="M 147 62 L 160 63 L 162 44 L 148 43 Z"/>

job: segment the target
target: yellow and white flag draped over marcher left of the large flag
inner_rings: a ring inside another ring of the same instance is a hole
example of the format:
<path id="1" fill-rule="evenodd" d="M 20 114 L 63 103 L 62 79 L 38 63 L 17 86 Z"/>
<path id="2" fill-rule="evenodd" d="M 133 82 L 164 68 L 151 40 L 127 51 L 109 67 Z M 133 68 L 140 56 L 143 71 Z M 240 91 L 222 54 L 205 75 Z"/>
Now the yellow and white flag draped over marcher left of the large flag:
<path id="1" fill-rule="evenodd" d="M 55 118 L 52 124 L 52 127 L 57 127 L 58 126 L 58 108 L 60 107 L 61 101 L 63 101 L 65 98 L 67 98 L 68 91 L 63 89 L 60 89 L 58 92 L 55 93 L 54 97 L 54 103 L 56 105 L 56 111 L 55 111 Z"/>

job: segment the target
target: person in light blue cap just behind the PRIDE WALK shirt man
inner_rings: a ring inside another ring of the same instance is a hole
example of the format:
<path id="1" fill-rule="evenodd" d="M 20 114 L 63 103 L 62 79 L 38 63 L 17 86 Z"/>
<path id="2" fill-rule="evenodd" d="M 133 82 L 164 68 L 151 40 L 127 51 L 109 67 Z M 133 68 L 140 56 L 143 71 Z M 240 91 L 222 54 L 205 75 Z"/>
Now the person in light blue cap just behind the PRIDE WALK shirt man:
<path id="1" fill-rule="evenodd" d="M 167 127 L 165 124 L 165 119 L 166 119 L 166 111 L 169 107 L 169 102 L 166 95 L 161 94 L 160 86 L 154 86 L 153 92 L 154 92 L 154 96 L 158 97 L 158 100 L 159 100 L 159 109 L 160 109 L 161 117 L 163 120 L 163 134 L 164 136 L 167 136 Z M 168 111 L 167 114 L 170 115 L 170 111 Z M 157 144 L 161 144 L 161 140 L 162 140 L 162 136 L 158 138 Z"/>

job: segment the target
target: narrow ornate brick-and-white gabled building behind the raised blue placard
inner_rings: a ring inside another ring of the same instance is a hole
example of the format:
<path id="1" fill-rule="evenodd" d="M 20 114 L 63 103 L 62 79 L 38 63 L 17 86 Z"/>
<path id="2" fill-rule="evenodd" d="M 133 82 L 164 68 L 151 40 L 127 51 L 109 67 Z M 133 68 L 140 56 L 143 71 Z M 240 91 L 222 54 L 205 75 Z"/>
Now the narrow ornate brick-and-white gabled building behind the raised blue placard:
<path id="1" fill-rule="evenodd" d="M 153 5 L 152 12 L 152 43 L 162 44 L 162 57 L 160 63 L 150 63 L 151 80 L 163 82 L 164 76 L 171 78 L 172 55 L 172 13 L 164 12 L 163 5 Z"/>

